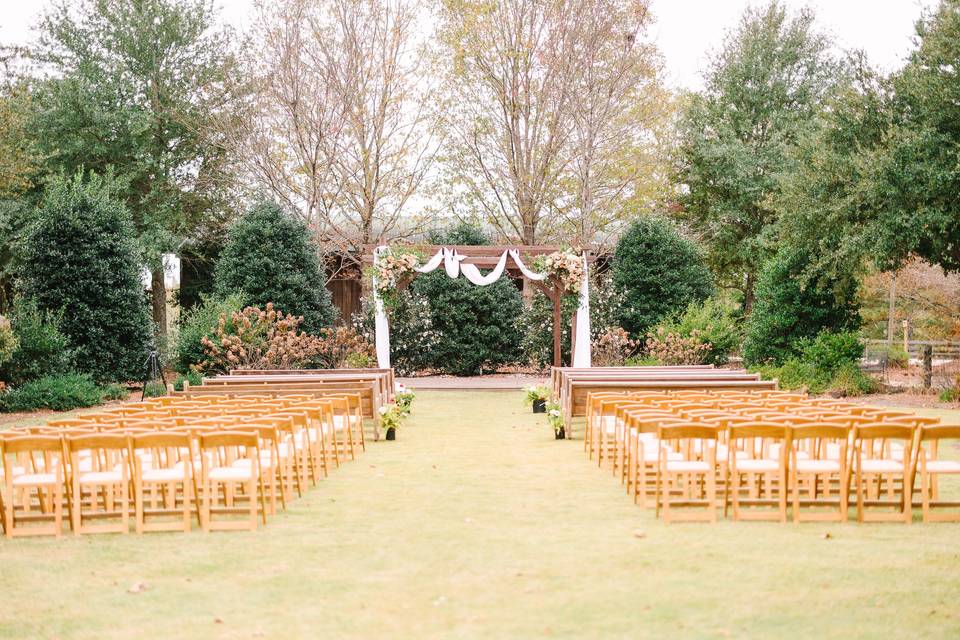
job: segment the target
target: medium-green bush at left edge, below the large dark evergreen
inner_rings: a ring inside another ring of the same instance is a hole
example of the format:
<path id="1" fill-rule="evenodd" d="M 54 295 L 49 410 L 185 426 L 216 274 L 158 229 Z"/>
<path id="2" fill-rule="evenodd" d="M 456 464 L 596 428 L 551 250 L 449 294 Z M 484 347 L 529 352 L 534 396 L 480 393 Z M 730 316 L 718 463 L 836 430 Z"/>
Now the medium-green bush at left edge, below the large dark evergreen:
<path id="1" fill-rule="evenodd" d="M 60 331 L 61 315 L 62 312 L 41 311 L 32 300 L 16 300 L 10 325 L 17 346 L 10 360 L 0 366 L 4 382 L 16 387 L 69 371 L 71 352 L 67 337 Z"/>

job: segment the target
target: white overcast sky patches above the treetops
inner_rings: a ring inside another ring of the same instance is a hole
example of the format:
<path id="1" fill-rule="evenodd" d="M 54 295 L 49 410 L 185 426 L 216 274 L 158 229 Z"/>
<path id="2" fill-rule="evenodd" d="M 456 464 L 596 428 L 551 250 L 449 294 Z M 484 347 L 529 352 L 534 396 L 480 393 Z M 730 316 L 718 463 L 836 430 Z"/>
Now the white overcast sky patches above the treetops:
<path id="1" fill-rule="evenodd" d="M 217 0 L 224 19 L 243 29 L 254 0 Z M 49 0 L 0 0 L 0 42 L 23 44 Z M 740 14 L 758 0 L 653 0 L 652 34 L 663 51 L 667 80 L 675 87 L 697 89 L 707 55 L 723 43 Z M 820 28 L 844 49 L 863 49 L 884 71 L 903 64 L 911 49 L 913 24 L 923 8 L 937 0 L 785 0 L 792 8 L 810 7 Z"/>

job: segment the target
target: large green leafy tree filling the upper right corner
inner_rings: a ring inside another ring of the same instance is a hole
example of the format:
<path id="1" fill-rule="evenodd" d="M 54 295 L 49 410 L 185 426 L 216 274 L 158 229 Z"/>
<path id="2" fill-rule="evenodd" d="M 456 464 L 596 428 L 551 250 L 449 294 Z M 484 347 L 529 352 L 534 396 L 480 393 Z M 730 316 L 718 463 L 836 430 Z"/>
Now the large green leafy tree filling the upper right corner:
<path id="1" fill-rule="evenodd" d="M 815 247 L 808 275 L 920 257 L 960 271 L 960 1 L 917 24 L 919 47 L 883 78 L 858 60 L 783 180 L 791 242 Z"/>

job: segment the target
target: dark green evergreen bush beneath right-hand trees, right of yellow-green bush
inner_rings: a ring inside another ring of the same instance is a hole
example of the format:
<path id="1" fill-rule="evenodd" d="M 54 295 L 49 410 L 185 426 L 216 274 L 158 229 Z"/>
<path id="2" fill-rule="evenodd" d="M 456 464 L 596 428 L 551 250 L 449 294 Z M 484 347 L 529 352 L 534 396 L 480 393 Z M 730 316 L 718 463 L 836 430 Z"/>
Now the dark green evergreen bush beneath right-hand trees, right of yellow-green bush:
<path id="1" fill-rule="evenodd" d="M 784 247 L 764 267 L 743 343 L 748 364 L 781 364 L 800 353 L 803 338 L 859 326 L 855 284 L 837 284 L 839 290 L 805 284 L 803 273 L 811 260 L 803 249 Z"/>

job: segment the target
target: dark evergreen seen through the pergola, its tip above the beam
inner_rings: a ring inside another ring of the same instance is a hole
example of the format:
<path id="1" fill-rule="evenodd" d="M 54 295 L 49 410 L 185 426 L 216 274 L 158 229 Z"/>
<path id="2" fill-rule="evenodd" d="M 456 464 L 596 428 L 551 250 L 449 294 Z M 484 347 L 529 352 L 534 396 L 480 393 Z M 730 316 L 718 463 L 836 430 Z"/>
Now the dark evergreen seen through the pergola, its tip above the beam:
<path id="1" fill-rule="evenodd" d="M 455 225 L 432 234 L 434 244 L 489 244 L 476 227 Z M 418 276 L 413 295 L 430 305 L 433 330 L 439 335 L 430 351 L 430 365 L 454 375 L 477 375 L 520 359 L 522 336 L 517 318 L 523 302 L 516 285 L 501 277 L 485 287 L 466 278 L 450 278 L 442 270 Z"/>

